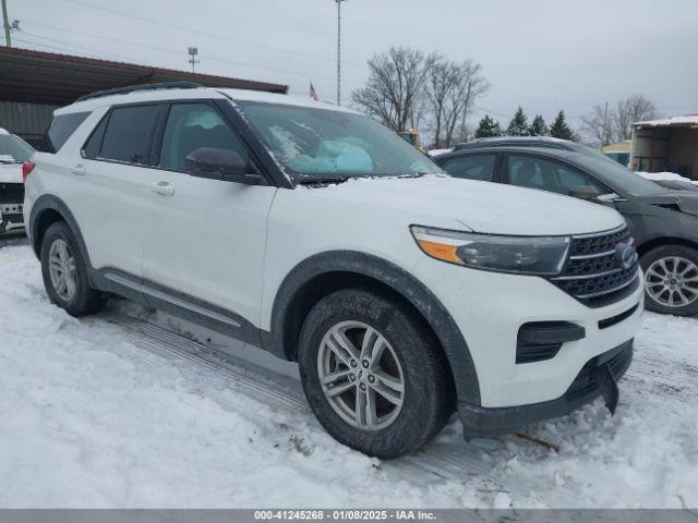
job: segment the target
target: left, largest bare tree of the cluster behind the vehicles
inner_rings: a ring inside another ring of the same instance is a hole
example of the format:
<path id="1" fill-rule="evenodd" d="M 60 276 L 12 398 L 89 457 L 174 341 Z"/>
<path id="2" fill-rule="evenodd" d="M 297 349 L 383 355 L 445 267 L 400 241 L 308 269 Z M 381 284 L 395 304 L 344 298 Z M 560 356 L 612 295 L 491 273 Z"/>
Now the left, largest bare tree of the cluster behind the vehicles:
<path id="1" fill-rule="evenodd" d="M 422 118 L 424 85 L 436 59 L 407 47 L 374 54 L 366 86 L 353 90 L 351 99 L 392 130 L 405 131 Z"/>

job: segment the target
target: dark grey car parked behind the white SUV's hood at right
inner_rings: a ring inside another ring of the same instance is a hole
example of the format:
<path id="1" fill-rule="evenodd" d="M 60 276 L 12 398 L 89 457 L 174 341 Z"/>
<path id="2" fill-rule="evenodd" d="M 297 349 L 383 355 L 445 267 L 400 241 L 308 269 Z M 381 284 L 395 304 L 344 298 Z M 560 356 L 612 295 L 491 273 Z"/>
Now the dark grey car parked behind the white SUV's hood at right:
<path id="1" fill-rule="evenodd" d="M 646 307 L 698 314 L 695 191 L 663 187 L 583 145 L 538 137 L 460 144 L 434 160 L 453 177 L 538 188 L 617 209 L 640 254 Z"/>

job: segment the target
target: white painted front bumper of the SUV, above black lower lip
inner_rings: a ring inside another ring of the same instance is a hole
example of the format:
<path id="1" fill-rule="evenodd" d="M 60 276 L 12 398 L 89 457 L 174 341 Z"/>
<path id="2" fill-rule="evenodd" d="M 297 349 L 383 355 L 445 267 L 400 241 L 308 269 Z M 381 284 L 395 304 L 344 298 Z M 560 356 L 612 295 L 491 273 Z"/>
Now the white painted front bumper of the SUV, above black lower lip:
<path id="1" fill-rule="evenodd" d="M 539 277 L 468 269 L 431 259 L 420 262 L 412 270 L 462 333 L 467 344 L 464 351 L 470 353 L 480 394 L 469 398 L 457 382 L 458 402 L 478 409 L 558 400 L 591 358 L 626 343 L 641 329 L 640 270 L 637 284 L 627 295 L 595 308 Z M 553 357 L 528 363 L 519 357 L 517 362 L 521 327 L 541 323 L 578 326 L 583 337 L 563 342 Z"/>

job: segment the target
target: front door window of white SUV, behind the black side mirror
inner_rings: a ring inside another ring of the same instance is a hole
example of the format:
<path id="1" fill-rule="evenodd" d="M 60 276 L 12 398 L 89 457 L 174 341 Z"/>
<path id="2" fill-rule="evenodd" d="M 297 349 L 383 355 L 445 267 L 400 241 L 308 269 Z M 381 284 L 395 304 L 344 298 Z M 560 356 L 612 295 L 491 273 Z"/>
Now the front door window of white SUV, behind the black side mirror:
<path id="1" fill-rule="evenodd" d="M 186 156 L 200 147 L 233 150 L 250 163 L 244 144 L 216 109 L 207 104 L 172 105 L 163 136 L 159 167 L 186 171 Z"/>

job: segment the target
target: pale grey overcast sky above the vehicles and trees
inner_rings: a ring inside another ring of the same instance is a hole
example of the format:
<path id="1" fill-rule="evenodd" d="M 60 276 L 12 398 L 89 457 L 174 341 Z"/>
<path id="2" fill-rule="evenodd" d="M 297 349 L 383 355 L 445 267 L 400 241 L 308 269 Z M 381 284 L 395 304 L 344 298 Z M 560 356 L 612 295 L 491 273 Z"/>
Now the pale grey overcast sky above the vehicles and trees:
<path id="1" fill-rule="evenodd" d="M 336 93 L 334 0 L 8 0 L 17 47 L 289 84 Z M 120 15 L 123 13 L 125 15 Z M 155 22 L 155 23 L 153 23 Z M 640 93 L 666 115 L 698 112 L 698 0 L 348 0 L 342 99 L 390 46 L 480 62 L 492 84 L 473 120 L 504 123 Z"/>

